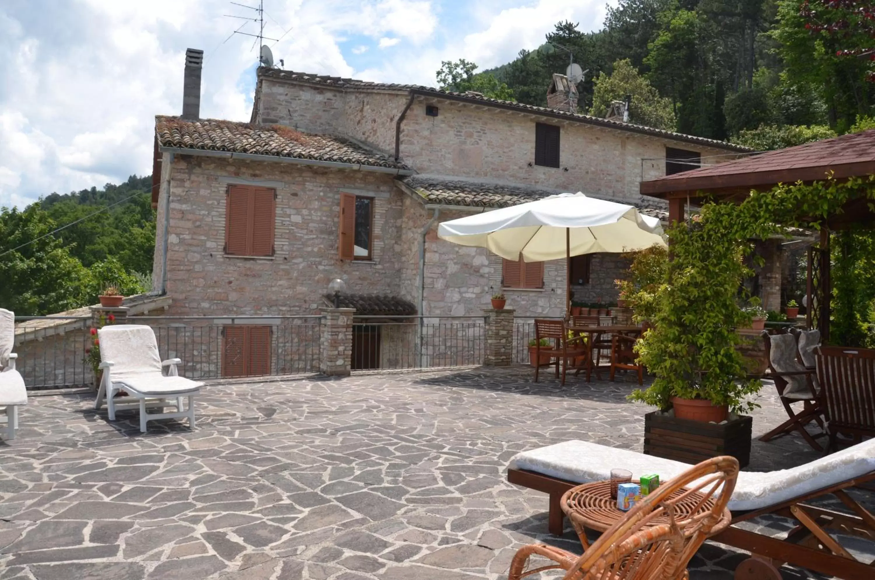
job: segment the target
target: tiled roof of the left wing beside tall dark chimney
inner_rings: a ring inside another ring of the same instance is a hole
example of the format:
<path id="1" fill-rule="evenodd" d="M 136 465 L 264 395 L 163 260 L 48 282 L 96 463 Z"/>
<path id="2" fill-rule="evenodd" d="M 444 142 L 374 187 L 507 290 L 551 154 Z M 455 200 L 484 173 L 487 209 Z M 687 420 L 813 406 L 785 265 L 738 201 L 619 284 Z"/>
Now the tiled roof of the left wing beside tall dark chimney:
<path id="1" fill-rule="evenodd" d="M 407 169 L 392 157 L 367 150 L 341 137 L 302 133 L 283 125 L 262 126 L 217 119 L 187 121 L 158 115 L 155 117 L 155 135 L 160 147 Z"/>

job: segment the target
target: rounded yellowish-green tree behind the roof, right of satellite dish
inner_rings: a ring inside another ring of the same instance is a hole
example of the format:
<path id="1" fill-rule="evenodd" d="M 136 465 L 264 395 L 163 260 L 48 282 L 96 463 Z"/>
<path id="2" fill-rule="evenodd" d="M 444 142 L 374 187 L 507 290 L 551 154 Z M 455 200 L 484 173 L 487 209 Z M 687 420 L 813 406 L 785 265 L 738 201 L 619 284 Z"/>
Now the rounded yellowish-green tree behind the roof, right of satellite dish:
<path id="1" fill-rule="evenodd" d="M 613 73 L 599 73 L 594 83 L 590 115 L 604 117 L 611 101 L 622 101 L 625 95 L 631 94 L 630 122 L 669 131 L 676 129 L 671 100 L 660 96 L 629 59 L 613 63 Z"/>

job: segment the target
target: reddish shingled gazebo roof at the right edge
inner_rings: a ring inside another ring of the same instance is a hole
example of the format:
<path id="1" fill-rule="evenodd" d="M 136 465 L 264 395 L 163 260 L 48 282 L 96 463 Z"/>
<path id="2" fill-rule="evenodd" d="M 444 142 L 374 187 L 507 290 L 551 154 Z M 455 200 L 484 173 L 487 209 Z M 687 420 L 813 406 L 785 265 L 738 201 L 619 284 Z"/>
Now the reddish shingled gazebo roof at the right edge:
<path id="1" fill-rule="evenodd" d="M 778 183 L 875 174 L 875 129 L 727 161 L 641 182 L 641 193 L 755 188 Z"/>

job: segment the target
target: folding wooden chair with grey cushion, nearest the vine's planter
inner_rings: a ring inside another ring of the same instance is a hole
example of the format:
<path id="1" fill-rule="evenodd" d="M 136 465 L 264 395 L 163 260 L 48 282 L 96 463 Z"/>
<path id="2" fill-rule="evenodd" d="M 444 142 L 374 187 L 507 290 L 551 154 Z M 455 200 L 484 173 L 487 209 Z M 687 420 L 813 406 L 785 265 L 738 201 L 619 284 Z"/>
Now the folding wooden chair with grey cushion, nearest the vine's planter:
<path id="1" fill-rule="evenodd" d="M 820 397 L 820 388 L 816 381 L 816 371 L 806 368 L 799 362 L 799 346 L 794 334 L 763 333 L 766 342 L 766 358 L 768 360 L 767 378 L 774 381 L 778 389 L 781 405 L 787 411 L 788 420 L 781 423 L 767 434 L 760 437 L 760 441 L 769 441 L 781 435 L 798 431 L 802 438 L 816 451 L 823 451 L 823 447 L 815 441 L 815 437 L 823 437 L 822 433 L 812 436 L 805 425 L 815 421 L 823 430 L 823 404 Z M 798 413 L 793 409 L 795 403 L 802 403 L 802 410 Z"/>

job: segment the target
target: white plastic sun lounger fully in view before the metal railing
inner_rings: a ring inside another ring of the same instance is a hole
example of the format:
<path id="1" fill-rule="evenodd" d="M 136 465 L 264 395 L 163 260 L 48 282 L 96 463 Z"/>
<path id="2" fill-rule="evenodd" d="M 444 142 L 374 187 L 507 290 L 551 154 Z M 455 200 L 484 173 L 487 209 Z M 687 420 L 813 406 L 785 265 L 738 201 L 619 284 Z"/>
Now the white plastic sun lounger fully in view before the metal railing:
<path id="1" fill-rule="evenodd" d="M 158 342 L 150 326 L 104 326 L 97 331 L 101 346 L 103 378 L 97 391 L 95 409 L 107 403 L 109 420 L 116 420 L 116 410 L 139 408 L 140 431 L 146 432 L 146 422 L 155 419 L 187 418 L 194 429 L 194 397 L 200 394 L 204 383 L 179 376 L 177 365 L 182 361 L 161 361 Z M 168 367 L 167 376 L 162 369 Z M 116 394 L 124 391 L 133 400 L 125 401 Z M 183 409 L 183 398 L 188 408 Z M 170 401 L 175 399 L 175 402 Z M 176 407 L 171 413 L 148 413 L 147 408 Z"/>

